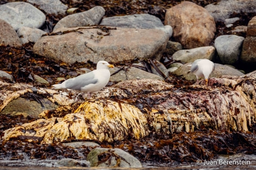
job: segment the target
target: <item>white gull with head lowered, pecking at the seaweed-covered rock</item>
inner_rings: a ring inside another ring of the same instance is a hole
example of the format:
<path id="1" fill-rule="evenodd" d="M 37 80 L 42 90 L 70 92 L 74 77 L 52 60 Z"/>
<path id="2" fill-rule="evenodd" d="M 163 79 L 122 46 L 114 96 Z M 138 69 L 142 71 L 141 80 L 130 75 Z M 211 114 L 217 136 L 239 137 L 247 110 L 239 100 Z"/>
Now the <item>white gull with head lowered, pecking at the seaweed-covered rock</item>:
<path id="1" fill-rule="evenodd" d="M 190 71 L 196 75 L 197 81 L 199 77 L 204 77 L 207 86 L 209 75 L 214 71 L 214 62 L 208 59 L 198 59 L 193 62 Z"/>

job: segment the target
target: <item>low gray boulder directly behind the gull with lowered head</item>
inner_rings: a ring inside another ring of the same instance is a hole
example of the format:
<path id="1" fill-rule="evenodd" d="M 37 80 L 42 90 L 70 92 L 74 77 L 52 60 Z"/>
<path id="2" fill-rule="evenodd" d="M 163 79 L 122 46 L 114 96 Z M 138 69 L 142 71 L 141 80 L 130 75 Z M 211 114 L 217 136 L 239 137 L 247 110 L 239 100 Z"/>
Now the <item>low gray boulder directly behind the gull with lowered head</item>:
<path id="1" fill-rule="evenodd" d="M 196 75 L 190 72 L 191 64 L 187 63 L 184 64 L 183 66 L 179 67 L 176 71 L 173 72 L 174 75 L 181 76 L 182 78 L 185 78 L 186 80 L 197 80 Z M 240 71 L 236 70 L 235 68 L 231 68 L 226 65 L 221 65 L 215 63 L 215 69 L 214 71 L 210 74 L 209 78 L 220 78 L 222 75 L 236 75 L 236 76 L 241 76 L 244 75 Z"/>

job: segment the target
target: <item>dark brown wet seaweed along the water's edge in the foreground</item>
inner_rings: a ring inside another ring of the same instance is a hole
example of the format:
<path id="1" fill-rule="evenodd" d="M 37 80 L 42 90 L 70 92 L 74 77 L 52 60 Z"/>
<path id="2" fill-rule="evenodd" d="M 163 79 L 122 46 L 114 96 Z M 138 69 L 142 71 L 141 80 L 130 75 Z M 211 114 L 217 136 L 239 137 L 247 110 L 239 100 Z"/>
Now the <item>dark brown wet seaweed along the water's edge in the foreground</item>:
<path id="1" fill-rule="evenodd" d="M 1 134 L 15 124 L 31 122 L 34 118 L 0 115 Z M 15 119 L 14 119 L 15 118 Z M 254 125 L 255 127 L 255 125 Z M 120 148 L 136 156 L 141 162 L 188 163 L 198 159 L 212 160 L 218 154 L 256 154 L 254 132 L 229 132 L 223 130 L 197 130 L 192 133 L 162 135 L 151 133 L 135 140 L 101 142 L 105 148 Z M 33 142 L 31 142 L 33 140 Z M 17 136 L 7 142 L 0 141 L 0 160 L 23 159 L 86 159 L 91 147 L 73 149 L 59 144 L 40 144 L 40 137 Z M 70 137 L 66 142 L 83 141 Z M 80 152 L 80 154 L 78 154 Z M 82 153 L 82 154 L 81 154 Z M 83 156 L 81 156 L 83 155 Z M 102 159 L 107 155 L 102 155 Z"/>

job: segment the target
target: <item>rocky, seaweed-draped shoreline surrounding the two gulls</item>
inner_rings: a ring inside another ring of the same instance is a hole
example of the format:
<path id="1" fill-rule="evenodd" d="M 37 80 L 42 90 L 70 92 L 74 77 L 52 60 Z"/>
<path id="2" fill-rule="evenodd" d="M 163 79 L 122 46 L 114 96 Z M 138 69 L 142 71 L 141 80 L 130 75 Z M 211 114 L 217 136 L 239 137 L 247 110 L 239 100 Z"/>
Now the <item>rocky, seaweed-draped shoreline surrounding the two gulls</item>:
<path id="1" fill-rule="evenodd" d="M 109 13 L 117 6 L 80 11 L 87 4 L 76 3 L 1 2 L 0 159 L 142 167 L 139 161 L 255 153 L 255 1 L 160 3 L 148 14 L 119 16 Z M 193 84 L 189 65 L 196 59 L 215 62 L 209 86 Z M 83 94 L 75 102 L 78 92 L 51 89 L 99 60 L 116 67 L 94 99 Z M 80 140 L 96 143 L 79 152 L 64 145 Z"/>

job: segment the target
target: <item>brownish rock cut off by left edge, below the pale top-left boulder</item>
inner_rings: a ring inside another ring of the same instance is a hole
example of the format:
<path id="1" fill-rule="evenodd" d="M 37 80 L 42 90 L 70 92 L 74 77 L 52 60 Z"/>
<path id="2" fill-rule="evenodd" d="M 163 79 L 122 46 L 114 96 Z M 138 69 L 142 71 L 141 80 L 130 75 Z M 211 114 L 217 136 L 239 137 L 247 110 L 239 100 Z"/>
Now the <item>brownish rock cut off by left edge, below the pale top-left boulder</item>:
<path id="1" fill-rule="evenodd" d="M 20 39 L 11 25 L 0 19 L 0 46 L 21 46 Z"/>

